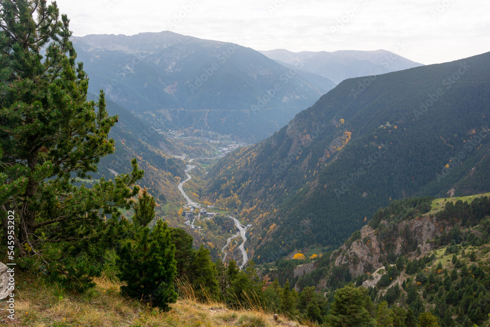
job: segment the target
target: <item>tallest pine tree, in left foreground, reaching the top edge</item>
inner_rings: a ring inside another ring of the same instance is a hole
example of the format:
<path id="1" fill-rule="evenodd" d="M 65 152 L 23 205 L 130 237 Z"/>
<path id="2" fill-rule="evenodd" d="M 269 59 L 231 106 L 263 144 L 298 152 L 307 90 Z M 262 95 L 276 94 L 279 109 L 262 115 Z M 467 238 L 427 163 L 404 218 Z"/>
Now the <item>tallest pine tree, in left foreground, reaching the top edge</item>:
<path id="1" fill-rule="evenodd" d="M 143 171 L 133 160 L 132 173 L 114 182 L 73 185 L 114 152 L 108 133 L 118 118 L 102 91 L 97 104 L 87 101 L 71 35 L 55 3 L 0 0 L 0 180 L 12 186 L 0 189 L 0 204 L 15 210 L 21 264 L 84 290 L 121 236 L 119 209 L 130 208 Z"/>

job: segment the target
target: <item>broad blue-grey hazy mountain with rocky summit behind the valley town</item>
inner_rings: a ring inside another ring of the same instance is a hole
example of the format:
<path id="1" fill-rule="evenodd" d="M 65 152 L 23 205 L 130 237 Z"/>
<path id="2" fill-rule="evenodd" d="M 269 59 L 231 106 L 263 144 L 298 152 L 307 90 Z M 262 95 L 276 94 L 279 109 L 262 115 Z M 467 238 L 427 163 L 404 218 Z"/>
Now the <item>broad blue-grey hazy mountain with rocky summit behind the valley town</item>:
<path id="1" fill-rule="evenodd" d="M 169 31 L 73 37 L 90 91 L 150 124 L 261 140 L 335 87 L 232 43 Z M 318 83 L 318 85 L 316 85 Z M 157 128 L 158 128 L 157 127 Z"/>

